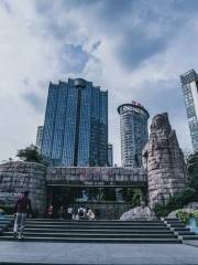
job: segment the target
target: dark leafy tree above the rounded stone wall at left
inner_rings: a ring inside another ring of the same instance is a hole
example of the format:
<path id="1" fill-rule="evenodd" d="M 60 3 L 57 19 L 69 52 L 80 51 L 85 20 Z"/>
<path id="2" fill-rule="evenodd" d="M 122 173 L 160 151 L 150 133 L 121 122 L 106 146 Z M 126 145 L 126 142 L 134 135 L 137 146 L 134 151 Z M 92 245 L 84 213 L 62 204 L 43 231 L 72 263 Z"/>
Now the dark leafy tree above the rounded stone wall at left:
<path id="1" fill-rule="evenodd" d="M 42 156 L 40 155 L 37 147 L 34 145 L 18 150 L 16 157 L 26 162 L 37 162 L 46 165 L 46 162 L 44 162 Z"/>

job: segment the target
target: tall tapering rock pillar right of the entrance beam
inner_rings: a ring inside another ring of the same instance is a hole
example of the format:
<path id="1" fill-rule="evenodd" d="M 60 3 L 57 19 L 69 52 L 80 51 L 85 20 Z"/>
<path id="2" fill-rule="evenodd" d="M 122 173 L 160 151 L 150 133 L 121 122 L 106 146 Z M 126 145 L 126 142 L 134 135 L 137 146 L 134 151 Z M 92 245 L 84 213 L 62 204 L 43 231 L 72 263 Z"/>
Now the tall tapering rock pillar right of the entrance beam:
<path id="1" fill-rule="evenodd" d="M 188 183 L 184 155 L 167 113 L 154 116 L 150 139 L 143 150 L 147 169 L 148 202 L 165 204 L 170 195 L 182 192 Z"/>

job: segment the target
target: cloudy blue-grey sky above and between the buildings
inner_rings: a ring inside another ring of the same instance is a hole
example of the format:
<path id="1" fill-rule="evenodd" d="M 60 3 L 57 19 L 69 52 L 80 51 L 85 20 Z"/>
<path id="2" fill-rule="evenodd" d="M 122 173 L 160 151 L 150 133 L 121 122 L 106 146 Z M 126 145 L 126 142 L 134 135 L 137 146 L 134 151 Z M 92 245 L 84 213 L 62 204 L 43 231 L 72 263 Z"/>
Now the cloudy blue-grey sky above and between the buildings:
<path id="1" fill-rule="evenodd" d="M 117 107 L 167 112 L 191 150 L 179 75 L 198 71 L 197 0 L 0 0 L 0 161 L 35 144 L 50 81 L 82 77 L 109 92 L 109 141 L 120 165 Z"/>

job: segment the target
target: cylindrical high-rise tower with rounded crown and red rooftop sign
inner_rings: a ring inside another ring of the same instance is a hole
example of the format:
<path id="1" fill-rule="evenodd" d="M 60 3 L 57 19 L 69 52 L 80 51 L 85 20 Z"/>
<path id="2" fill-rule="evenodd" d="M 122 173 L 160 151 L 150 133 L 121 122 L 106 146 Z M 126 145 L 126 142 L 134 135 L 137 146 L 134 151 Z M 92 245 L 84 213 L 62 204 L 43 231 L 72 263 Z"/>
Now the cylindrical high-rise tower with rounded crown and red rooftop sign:
<path id="1" fill-rule="evenodd" d="M 120 114 L 121 160 L 123 167 L 141 167 L 142 150 L 147 142 L 147 110 L 139 103 L 123 104 Z"/>

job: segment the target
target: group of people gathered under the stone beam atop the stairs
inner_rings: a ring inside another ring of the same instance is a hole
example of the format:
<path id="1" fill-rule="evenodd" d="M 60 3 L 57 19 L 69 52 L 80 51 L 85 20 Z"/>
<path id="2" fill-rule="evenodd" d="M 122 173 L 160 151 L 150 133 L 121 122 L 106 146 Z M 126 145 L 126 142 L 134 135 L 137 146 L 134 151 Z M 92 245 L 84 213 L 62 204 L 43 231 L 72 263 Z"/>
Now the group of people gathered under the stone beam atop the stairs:
<path id="1" fill-rule="evenodd" d="M 72 206 L 64 208 L 61 206 L 55 214 L 53 205 L 48 205 L 47 208 L 47 218 L 54 218 L 57 215 L 59 219 L 66 220 L 95 220 L 96 215 L 94 211 L 84 205 L 79 206 L 78 209 L 74 209 Z"/>

